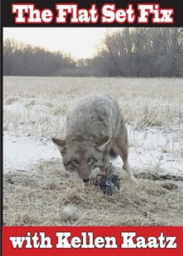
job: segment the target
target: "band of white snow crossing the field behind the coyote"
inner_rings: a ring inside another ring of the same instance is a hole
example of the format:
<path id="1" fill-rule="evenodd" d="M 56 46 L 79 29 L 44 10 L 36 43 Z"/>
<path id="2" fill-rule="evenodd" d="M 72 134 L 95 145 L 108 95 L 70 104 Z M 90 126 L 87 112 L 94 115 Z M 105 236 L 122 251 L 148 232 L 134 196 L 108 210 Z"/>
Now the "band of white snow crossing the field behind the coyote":
<path id="1" fill-rule="evenodd" d="M 144 166 L 157 166 L 166 173 L 183 175 L 183 160 L 177 154 L 182 141 L 174 141 L 174 132 L 165 132 L 157 128 L 144 131 L 133 130 L 128 126 L 129 163 L 133 169 Z M 169 150 L 163 150 L 169 143 Z M 14 132 L 4 132 L 4 172 L 11 169 L 29 171 L 29 165 L 41 160 L 61 158 L 60 152 L 48 139 L 36 139 L 33 136 L 17 137 Z M 122 167 L 123 162 L 118 157 L 113 163 Z"/>

